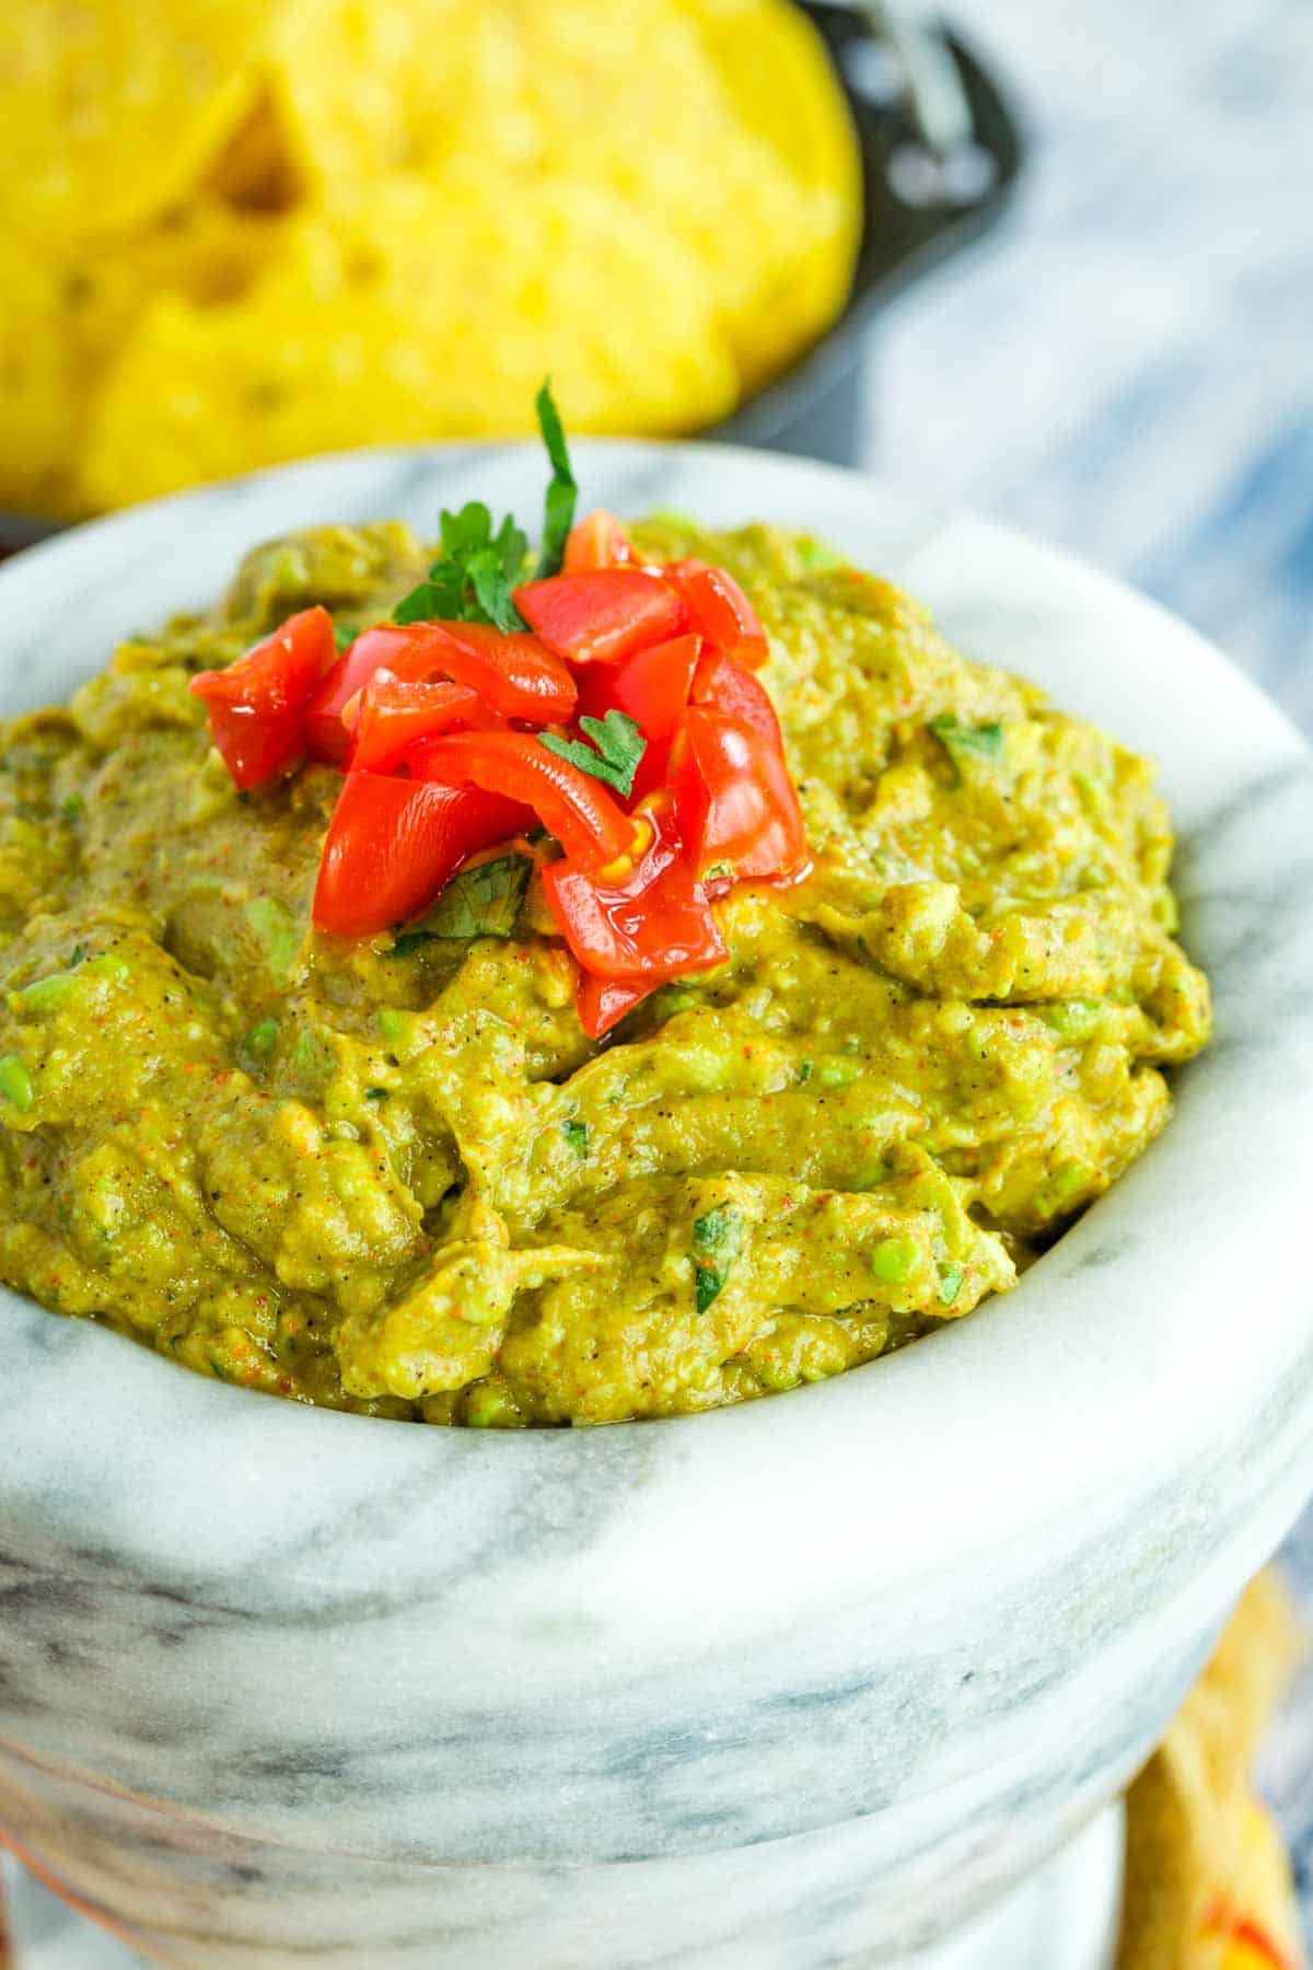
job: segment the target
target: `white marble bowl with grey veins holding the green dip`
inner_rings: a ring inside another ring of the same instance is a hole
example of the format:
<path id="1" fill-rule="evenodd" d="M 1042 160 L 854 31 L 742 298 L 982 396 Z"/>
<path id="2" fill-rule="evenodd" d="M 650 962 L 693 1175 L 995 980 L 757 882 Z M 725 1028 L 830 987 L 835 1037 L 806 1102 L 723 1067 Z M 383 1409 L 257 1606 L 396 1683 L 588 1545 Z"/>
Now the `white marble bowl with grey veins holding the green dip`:
<path id="1" fill-rule="evenodd" d="M 0 1826 L 185 1970 L 819 1970 L 963 1923 L 1110 1801 L 1313 1485 L 1313 766 L 1150 603 L 825 467 L 581 445 L 772 516 L 1161 760 L 1213 1048 L 1161 1141 L 933 1340 L 748 1409 L 484 1436 L 317 1414 L 0 1300 Z M 252 542 L 524 447 L 193 492 L 0 573 L 4 709 Z M 1055 1962 L 1055 1954 L 1043 1958 Z"/>

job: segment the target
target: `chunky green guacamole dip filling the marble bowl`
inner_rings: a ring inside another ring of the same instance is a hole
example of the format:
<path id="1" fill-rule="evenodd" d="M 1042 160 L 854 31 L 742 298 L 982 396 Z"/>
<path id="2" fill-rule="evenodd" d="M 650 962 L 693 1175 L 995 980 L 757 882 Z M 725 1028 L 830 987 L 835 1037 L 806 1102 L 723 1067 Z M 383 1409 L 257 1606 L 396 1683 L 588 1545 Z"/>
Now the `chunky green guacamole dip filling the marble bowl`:
<path id="1" fill-rule="evenodd" d="M 752 595 L 815 875 L 602 1044 L 522 857 L 315 936 L 339 776 L 234 794 L 189 695 L 291 609 L 384 617 L 406 528 L 258 550 L 6 729 L 4 1280 L 303 1403 L 667 1416 L 961 1318 L 1163 1127 L 1209 995 L 1150 766 L 813 542 L 638 540 Z"/>

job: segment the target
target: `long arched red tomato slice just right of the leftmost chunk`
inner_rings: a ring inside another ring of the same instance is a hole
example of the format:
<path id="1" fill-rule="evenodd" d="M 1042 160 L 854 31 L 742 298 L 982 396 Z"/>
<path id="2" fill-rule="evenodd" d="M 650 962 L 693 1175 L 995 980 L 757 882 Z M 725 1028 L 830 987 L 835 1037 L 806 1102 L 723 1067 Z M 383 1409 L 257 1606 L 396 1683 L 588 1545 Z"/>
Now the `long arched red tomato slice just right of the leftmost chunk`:
<path id="1" fill-rule="evenodd" d="M 508 719 L 555 725 L 575 709 L 575 680 L 551 650 L 516 630 L 504 636 L 486 623 L 380 623 L 362 630 L 329 676 L 307 711 L 307 737 L 315 758 L 341 764 L 350 749 L 343 711 L 376 670 L 423 684 L 453 678 Z"/>

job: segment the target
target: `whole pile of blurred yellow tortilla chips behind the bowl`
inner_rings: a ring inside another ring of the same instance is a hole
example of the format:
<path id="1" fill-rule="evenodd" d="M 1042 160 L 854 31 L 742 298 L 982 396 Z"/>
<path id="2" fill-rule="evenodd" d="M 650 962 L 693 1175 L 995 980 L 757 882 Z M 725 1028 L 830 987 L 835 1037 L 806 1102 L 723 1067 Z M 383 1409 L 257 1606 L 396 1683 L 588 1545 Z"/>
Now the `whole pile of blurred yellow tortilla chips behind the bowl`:
<path id="1" fill-rule="evenodd" d="M 846 297 L 791 0 L 0 8 L 0 506 L 358 443 L 713 424 Z"/>

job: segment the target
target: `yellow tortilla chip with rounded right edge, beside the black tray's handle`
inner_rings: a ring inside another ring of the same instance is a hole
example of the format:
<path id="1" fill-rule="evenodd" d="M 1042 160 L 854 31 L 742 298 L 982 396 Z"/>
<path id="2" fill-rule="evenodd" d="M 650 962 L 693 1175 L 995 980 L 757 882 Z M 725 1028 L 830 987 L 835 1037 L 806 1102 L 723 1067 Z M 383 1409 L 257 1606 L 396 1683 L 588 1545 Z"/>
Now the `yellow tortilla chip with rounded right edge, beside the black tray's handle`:
<path id="1" fill-rule="evenodd" d="M 287 148 L 327 199 L 441 181 L 461 156 L 514 201 L 541 207 L 563 175 L 614 191 L 695 254 L 740 388 L 843 307 L 860 152 L 793 0 L 380 0 L 313 33 L 293 10 L 278 47 Z"/>

